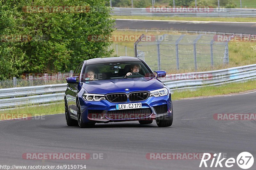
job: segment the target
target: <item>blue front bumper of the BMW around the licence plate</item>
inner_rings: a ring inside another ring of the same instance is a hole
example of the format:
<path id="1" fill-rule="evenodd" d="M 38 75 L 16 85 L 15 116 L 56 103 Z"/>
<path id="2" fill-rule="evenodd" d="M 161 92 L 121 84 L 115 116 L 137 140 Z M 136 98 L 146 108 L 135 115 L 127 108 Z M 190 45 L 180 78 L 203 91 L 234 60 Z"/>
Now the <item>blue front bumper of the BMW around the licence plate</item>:
<path id="1" fill-rule="evenodd" d="M 120 110 L 120 114 L 116 113 L 116 104 L 123 103 L 112 103 L 108 100 L 100 100 L 100 101 L 85 101 L 82 97 L 79 98 L 80 106 L 81 106 L 81 114 L 83 122 L 123 122 L 123 121 L 135 121 L 135 120 L 152 120 L 158 117 L 167 116 L 170 117 L 172 115 L 172 99 L 171 94 L 161 97 L 148 97 L 147 100 L 143 101 L 128 101 L 125 103 L 141 103 L 142 108 L 138 110 L 140 114 L 134 114 L 135 109 L 129 109 L 132 113 L 122 112 L 124 110 Z M 157 112 L 156 106 L 167 105 L 166 112 Z M 145 113 L 144 113 L 145 110 Z M 119 111 L 119 110 L 118 110 Z M 147 111 L 147 112 L 146 112 Z M 114 114 L 110 114 L 114 113 Z M 135 111 L 136 112 L 136 111 Z"/>

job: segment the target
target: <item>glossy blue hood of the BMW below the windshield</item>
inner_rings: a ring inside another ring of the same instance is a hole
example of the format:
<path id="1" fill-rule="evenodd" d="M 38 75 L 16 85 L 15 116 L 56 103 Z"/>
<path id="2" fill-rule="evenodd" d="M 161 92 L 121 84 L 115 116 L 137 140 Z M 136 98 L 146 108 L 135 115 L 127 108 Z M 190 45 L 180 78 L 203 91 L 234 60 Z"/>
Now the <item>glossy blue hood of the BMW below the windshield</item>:
<path id="1" fill-rule="evenodd" d="M 83 82 L 82 87 L 88 93 L 107 94 L 113 92 L 151 91 L 163 88 L 163 83 L 150 77 L 95 80 Z M 124 89 L 129 89 L 125 91 Z"/>

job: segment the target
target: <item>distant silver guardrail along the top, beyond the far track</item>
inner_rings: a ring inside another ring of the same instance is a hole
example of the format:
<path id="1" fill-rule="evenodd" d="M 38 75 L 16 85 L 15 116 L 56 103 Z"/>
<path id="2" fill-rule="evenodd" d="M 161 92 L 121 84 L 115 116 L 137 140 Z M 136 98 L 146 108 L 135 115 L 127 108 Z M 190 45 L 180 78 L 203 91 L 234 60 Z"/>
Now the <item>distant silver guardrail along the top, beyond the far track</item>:
<path id="1" fill-rule="evenodd" d="M 151 10 L 150 8 L 112 8 L 112 15 L 124 16 L 182 16 L 182 17 L 256 17 L 256 9 L 239 9 L 239 8 L 210 8 L 208 12 L 187 12 L 168 9 Z M 178 10 L 177 10 L 178 9 Z M 170 12 L 169 12 L 170 11 Z"/>

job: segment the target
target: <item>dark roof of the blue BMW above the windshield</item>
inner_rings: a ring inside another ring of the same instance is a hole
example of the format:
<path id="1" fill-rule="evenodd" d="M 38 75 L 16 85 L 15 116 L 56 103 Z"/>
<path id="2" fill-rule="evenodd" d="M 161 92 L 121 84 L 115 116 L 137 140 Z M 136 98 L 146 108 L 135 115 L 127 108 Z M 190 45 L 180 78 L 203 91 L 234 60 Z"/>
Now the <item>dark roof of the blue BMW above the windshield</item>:
<path id="1" fill-rule="evenodd" d="M 86 60 L 86 64 L 118 62 L 118 61 L 140 61 L 140 59 L 137 57 L 131 57 L 131 56 L 92 58 L 92 59 Z"/>

